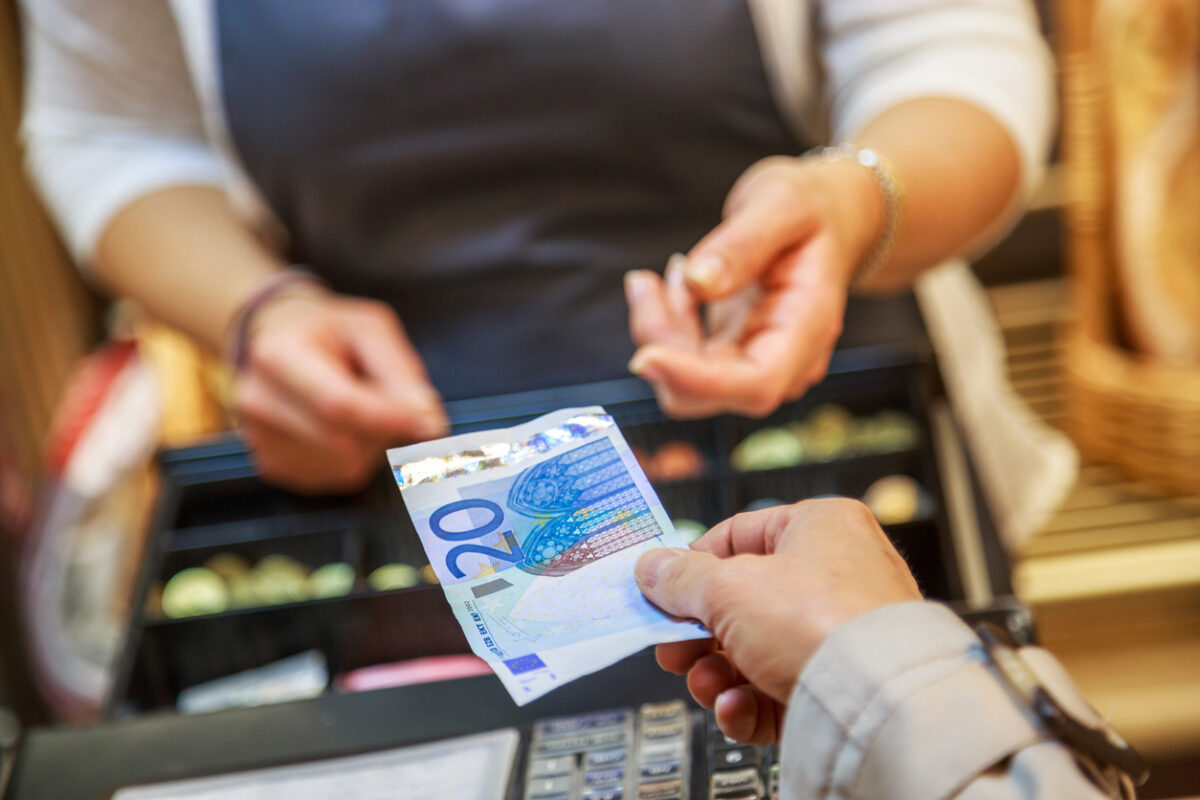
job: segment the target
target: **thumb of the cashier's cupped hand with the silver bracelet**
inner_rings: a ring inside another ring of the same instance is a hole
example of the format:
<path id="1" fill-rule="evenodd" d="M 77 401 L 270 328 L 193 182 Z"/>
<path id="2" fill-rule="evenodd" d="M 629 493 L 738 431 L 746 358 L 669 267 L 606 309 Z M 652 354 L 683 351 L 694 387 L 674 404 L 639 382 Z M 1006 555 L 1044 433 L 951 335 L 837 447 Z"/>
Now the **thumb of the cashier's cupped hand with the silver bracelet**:
<path id="1" fill-rule="evenodd" d="M 728 297 L 758 281 L 815 223 L 794 191 L 762 186 L 688 253 L 688 285 L 701 300 Z"/>

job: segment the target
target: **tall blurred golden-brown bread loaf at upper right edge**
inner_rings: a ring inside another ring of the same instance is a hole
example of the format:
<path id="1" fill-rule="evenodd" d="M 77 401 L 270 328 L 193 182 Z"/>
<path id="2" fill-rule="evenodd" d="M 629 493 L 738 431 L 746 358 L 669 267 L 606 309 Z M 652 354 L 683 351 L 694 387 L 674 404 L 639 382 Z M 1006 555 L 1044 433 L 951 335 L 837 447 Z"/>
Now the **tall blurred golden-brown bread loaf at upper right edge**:
<path id="1" fill-rule="evenodd" d="M 1200 2 L 1104 0 L 1112 233 L 1130 344 L 1200 363 Z"/>

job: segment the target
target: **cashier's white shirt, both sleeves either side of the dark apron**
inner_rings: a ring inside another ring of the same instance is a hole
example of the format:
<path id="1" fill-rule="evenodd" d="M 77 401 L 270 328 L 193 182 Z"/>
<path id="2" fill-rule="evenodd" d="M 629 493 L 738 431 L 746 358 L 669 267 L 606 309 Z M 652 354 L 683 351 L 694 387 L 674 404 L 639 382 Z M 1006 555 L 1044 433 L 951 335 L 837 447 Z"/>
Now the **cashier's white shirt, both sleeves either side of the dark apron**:
<path id="1" fill-rule="evenodd" d="M 1028 0 L 748 2 L 773 95 L 798 134 L 847 140 L 905 101 L 961 100 L 1012 137 L 1020 209 L 1054 121 Z M 29 168 L 80 263 L 119 210 L 167 186 L 222 187 L 248 223 L 270 223 L 227 133 L 210 0 L 23 0 L 23 10 Z"/>

